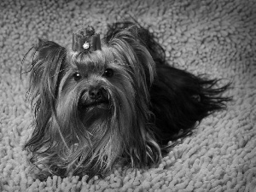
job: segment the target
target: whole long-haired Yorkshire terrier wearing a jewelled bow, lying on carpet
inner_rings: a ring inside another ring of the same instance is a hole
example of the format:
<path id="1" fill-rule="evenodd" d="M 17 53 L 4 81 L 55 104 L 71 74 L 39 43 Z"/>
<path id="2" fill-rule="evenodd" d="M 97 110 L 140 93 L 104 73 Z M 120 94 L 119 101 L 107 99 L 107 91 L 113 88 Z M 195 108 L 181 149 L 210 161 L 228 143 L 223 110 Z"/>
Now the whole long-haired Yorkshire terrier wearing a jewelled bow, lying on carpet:
<path id="1" fill-rule="evenodd" d="M 157 165 L 169 141 L 230 100 L 221 96 L 229 84 L 171 67 L 153 34 L 131 22 L 104 38 L 85 27 L 72 49 L 43 39 L 32 49 L 35 122 L 25 148 L 41 178 Z"/>

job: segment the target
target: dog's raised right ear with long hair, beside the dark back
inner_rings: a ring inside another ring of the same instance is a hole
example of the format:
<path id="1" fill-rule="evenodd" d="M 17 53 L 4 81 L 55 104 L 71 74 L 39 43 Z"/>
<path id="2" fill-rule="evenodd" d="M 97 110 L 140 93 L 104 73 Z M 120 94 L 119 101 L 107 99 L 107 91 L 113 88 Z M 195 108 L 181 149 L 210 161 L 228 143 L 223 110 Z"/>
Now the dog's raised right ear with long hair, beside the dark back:
<path id="1" fill-rule="evenodd" d="M 139 28 L 131 25 L 126 28 L 117 28 L 113 32 L 113 37 L 107 42 L 108 47 L 113 50 L 113 55 L 124 58 L 124 63 L 130 67 L 130 71 L 135 75 L 134 79 L 141 79 L 141 87 L 150 87 L 155 76 L 155 65 L 146 44 L 139 37 Z"/>

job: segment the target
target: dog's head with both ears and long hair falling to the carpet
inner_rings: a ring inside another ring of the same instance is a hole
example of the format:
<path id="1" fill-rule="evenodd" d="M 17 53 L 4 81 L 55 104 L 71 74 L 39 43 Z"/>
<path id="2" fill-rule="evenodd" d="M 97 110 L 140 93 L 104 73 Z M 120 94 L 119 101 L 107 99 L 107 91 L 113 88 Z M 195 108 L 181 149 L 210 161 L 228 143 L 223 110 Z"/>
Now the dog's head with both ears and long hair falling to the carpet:
<path id="1" fill-rule="evenodd" d="M 136 167 L 160 160 L 148 123 L 154 61 L 136 30 L 89 52 L 39 42 L 30 89 L 36 125 L 26 143 L 34 163 L 65 176 L 104 174 L 119 160 Z"/>

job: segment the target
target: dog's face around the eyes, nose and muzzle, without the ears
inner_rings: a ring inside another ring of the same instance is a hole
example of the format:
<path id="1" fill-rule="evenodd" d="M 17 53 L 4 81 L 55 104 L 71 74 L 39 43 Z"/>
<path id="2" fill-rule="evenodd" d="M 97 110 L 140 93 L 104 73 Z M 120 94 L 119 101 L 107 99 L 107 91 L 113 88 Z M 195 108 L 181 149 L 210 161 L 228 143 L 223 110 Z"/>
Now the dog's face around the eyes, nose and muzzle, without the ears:
<path id="1" fill-rule="evenodd" d="M 104 47 L 91 53 L 90 58 L 72 54 L 67 59 L 67 73 L 58 90 L 60 112 L 67 112 L 73 106 L 86 128 L 98 120 L 117 119 L 119 115 L 129 119 L 131 111 L 135 111 L 138 84 L 146 85 L 137 82 L 134 68 L 109 55 L 108 48 Z"/>

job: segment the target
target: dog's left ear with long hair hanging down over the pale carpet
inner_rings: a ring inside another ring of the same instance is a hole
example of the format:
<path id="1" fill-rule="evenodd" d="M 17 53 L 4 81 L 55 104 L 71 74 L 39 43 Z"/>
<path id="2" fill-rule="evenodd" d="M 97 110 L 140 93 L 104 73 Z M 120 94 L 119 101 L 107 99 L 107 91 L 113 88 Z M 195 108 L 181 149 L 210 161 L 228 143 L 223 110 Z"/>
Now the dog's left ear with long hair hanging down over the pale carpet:
<path id="1" fill-rule="evenodd" d="M 55 97 L 65 68 L 67 49 L 39 38 L 34 50 L 36 57 L 32 60 L 31 90 L 39 91 L 38 94 L 43 91 Z"/>

